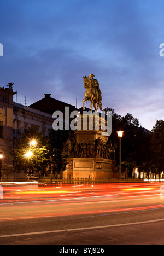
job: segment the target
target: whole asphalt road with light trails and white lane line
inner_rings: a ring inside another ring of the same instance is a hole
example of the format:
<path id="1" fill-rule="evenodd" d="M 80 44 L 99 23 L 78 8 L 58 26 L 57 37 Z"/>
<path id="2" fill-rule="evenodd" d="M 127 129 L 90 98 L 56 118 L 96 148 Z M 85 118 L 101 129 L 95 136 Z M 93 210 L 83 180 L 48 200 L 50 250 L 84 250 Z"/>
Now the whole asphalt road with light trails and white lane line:
<path id="1" fill-rule="evenodd" d="M 3 187 L 0 245 L 163 245 L 161 185 Z"/>

